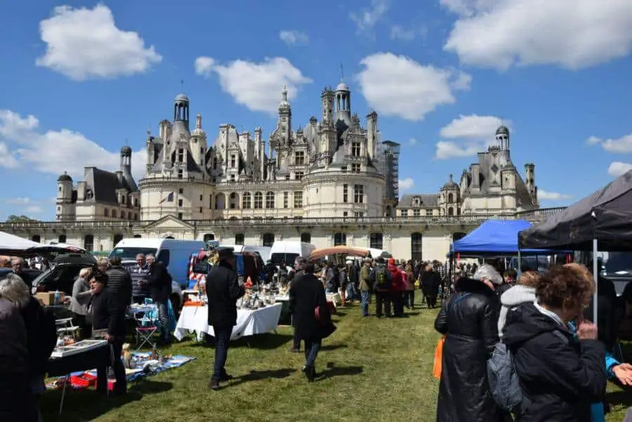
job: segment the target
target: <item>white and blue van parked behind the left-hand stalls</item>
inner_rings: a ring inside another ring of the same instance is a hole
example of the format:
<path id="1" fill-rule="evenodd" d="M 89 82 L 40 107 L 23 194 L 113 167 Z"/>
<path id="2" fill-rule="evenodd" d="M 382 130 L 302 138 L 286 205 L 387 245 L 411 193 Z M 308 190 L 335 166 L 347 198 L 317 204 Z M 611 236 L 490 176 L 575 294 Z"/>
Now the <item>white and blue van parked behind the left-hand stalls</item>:
<path id="1" fill-rule="evenodd" d="M 188 282 L 187 270 L 192 253 L 205 249 L 202 240 L 177 240 L 157 238 L 123 239 L 114 246 L 110 258 L 118 256 L 122 263 L 136 262 L 138 253 L 152 254 L 171 274 L 171 278 L 179 286 L 184 287 Z"/>

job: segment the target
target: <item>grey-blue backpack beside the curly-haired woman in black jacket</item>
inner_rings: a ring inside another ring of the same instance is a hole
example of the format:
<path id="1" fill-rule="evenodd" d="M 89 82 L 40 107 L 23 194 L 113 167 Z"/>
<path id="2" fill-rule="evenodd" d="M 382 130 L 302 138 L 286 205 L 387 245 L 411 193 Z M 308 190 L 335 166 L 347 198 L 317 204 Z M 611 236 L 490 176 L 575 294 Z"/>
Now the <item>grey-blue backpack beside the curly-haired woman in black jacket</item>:
<path id="1" fill-rule="evenodd" d="M 568 343 L 568 338 L 555 330 L 553 334 Z M 513 355 L 505 343 L 496 343 L 492 357 L 487 360 L 487 381 L 492 397 L 502 409 L 515 411 L 527 397 L 522 393 L 520 377 L 515 371 Z"/>

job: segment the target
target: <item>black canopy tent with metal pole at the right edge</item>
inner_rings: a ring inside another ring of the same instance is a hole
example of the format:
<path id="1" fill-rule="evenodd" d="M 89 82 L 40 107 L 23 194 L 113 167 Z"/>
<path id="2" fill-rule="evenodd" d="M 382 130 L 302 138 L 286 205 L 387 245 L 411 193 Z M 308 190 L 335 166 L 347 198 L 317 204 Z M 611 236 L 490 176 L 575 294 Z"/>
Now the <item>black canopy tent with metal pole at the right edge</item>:
<path id="1" fill-rule="evenodd" d="M 632 170 L 600 190 L 518 233 L 522 249 L 574 249 L 593 252 L 598 279 L 598 251 L 632 251 Z M 593 317 L 597 321 L 597 284 Z"/>

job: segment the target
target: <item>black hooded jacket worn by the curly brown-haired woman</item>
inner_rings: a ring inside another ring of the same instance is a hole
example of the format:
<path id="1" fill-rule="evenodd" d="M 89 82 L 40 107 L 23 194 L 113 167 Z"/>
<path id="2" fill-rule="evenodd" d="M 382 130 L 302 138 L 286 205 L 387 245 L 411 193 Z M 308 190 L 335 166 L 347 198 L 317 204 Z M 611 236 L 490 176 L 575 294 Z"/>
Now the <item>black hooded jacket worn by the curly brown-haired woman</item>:
<path id="1" fill-rule="evenodd" d="M 575 341 L 564 324 L 523 303 L 507 312 L 503 343 L 525 396 L 520 422 L 591 422 L 607 382 L 600 341 Z"/>

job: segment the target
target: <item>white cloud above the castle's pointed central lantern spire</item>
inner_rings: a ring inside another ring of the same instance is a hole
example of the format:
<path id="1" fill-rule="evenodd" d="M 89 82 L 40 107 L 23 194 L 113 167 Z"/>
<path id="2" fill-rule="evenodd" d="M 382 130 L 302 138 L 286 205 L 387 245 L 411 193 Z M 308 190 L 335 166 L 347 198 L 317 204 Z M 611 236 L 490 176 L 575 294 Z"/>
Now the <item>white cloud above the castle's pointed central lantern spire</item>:
<path id="1" fill-rule="evenodd" d="M 265 58 L 259 63 L 234 60 L 220 65 L 213 58 L 203 56 L 195 59 L 195 72 L 204 77 L 217 74 L 223 91 L 237 104 L 269 114 L 277 112 L 282 86 L 287 86 L 287 97 L 293 100 L 302 85 L 312 82 L 282 57 Z"/>

